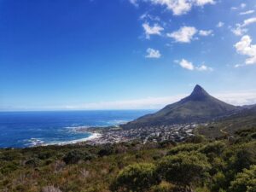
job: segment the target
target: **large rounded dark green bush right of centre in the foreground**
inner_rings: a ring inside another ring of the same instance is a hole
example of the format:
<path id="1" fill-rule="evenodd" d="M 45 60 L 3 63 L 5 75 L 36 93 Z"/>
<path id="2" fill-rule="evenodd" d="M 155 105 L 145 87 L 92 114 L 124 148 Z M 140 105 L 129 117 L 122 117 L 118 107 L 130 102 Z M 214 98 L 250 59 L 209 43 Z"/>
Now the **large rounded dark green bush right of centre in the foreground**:
<path id="1" fill-rule="evenodd" d="M 170 183 L 190 186 L 197 178 L 202 178 L 209 169 L 210 165 L 204 154 L 182 152 L 160 160 L 157 172 Z"/>

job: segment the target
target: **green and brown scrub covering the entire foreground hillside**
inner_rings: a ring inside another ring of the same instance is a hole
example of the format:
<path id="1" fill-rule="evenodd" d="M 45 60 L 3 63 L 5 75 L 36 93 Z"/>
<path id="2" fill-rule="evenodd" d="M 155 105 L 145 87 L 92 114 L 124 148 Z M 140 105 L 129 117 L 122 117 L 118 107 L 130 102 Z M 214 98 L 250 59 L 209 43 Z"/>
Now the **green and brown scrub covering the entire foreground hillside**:
<path id="1" fill-rule="evenodd" d="M 255 135 L 0 149 L 0 191 L 255 192 Z"/>

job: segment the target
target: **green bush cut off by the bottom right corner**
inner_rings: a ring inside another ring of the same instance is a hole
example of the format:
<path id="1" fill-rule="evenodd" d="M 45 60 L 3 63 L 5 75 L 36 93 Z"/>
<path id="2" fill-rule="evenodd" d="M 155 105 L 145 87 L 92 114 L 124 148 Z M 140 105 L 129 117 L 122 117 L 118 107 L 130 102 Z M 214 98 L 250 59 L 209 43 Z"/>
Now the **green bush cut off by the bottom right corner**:
<path id="1" fill-rule="evenodd" d="M 255 192 L 256 191 L 256 166 L 244 169 L 236 175 L 231 182 L 230 192 Z"/>

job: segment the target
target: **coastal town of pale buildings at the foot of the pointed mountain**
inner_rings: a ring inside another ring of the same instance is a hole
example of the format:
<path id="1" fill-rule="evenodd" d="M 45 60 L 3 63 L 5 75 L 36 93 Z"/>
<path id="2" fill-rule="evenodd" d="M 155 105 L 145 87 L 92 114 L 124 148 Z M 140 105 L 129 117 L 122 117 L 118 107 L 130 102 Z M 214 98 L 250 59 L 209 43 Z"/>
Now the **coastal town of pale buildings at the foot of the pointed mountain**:
<path id="1" fill-rule="evenodd" d="M 132 140 L 140 140 L 142 143 L 163 142 L 166 140 L 181 142 L 186 137 L 194 135 L 193 131 L 196 126 L 198 125 L 160 125 L 124 129 L 121 125 L 115 125 L 111 127 L 80 128 L 77 131 L 88 131 L 92 134 L 95 134 L 96 137 L 93 137 L 93 139 L 87 141 L 87 143 L 92 145 L 130 142 Z"/>

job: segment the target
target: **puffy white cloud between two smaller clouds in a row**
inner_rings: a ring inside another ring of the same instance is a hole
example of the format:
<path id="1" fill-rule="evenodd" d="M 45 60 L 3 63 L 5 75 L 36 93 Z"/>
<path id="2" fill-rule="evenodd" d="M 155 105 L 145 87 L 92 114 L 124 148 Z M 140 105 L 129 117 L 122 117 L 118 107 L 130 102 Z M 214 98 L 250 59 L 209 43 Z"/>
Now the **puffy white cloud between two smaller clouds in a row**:
<path id="1" fill-rule="evenodd" d="M 180 43 L 190 43 L 197 29 L 194 26 L 183 26 L 177 32 L 167 33 L 167 37 L 174 38 Z"/>

